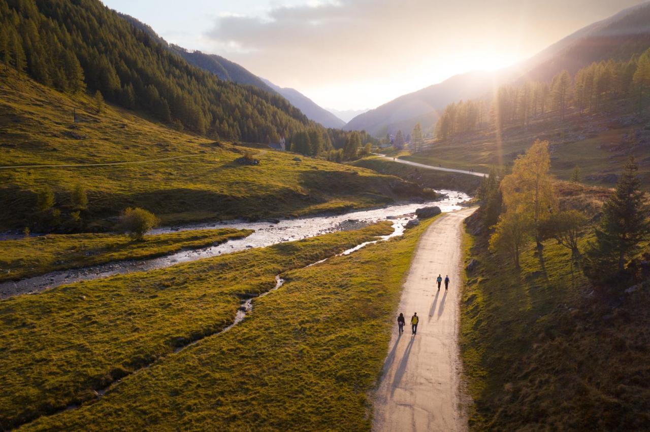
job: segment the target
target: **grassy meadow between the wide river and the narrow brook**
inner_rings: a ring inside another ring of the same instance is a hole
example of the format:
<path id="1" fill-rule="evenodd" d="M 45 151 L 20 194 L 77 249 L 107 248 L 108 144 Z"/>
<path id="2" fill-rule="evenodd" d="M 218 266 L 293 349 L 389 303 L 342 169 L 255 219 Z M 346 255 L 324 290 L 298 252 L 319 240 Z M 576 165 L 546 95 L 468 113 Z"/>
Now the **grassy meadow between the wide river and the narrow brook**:
<path id="1" fill-rule="evenodd" d="M 92 400 L 95 390 L 222 330 L 240 300 L 272 289 L 277 274 L 392 231 L 383 222 L 0 301 L 0 427 Z"/>

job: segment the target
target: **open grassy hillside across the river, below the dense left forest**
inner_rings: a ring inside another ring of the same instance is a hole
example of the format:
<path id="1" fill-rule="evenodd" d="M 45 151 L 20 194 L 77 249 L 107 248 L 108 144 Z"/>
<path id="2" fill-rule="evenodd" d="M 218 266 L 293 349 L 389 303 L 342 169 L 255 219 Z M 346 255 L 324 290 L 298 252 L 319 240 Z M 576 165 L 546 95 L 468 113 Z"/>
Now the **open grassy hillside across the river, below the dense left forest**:
<path id="1" fill-rule="evenodd" d="M 0 229 L 34 223 L 36 194 L 45 185 L 55 191 L 62 220 L 70 191 L 86 187 L 85 230 L 110 228 L 110 218 L 127 206 L 174 224 L 344 211 L 419 193 L 395 177 L 311 158 L 297 162 L 295 154 L 272 150 L 252 150 L 259 165 L 240 165 L 235 161 L 249 149 L 136 114 L 110 105 L 97 114 L 86 96 L 70 97 L 12 71 L 0 76 Z M 100 165 L 16 167 L 83 164 Z"/>

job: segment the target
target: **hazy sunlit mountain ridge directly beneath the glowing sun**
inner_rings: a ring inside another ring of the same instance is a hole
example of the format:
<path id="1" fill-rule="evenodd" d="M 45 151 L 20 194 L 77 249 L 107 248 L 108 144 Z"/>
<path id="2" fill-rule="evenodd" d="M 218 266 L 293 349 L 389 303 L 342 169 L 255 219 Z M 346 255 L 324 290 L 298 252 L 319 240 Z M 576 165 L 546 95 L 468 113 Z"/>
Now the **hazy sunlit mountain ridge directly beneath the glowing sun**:
<path id="1" fill-rule="evenodd" d="M 625 32 L 625 29 L 635 31 Z M 395 133 L 396 125 L 400 125 L 402 131 L 408 133 L 417 118 L 424 118 L 422 129 L 427 130 L 433 128 L 440 111 L 447 104 L 485 95 L 494 82 L 506 84 L 523 78 L 549 80 L 563 69 L 573 73 L 594 61 L 629 58 L 630 54 L 642 53 L 648 46 L 650 2 L 623 9 L 582 27 L 515 66 L 493 72 L 461 73 L 397 97 L 374 110 L 357 115 L 344 129 L 363 129 L 374 136 L 383 136 Z"/>

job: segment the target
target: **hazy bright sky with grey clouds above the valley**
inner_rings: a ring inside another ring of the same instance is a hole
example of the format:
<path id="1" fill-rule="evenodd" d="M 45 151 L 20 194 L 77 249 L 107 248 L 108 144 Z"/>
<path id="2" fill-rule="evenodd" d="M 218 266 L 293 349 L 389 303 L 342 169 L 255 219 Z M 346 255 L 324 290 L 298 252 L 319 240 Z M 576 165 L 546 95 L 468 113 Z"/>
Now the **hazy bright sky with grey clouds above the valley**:
<path id="1" fill-rule="evenodd" d="M 642 0 L 103 0 L 328 108 L 497 69 Z"/>

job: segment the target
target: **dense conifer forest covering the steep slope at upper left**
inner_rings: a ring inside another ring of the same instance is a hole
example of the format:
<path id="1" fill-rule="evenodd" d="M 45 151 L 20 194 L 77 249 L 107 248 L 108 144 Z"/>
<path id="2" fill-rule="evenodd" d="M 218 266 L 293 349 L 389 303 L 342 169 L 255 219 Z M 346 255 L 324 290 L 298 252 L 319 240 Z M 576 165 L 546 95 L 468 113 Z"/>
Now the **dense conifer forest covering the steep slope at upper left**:
<path id="1" fill-rule="evenodd" d="M 214 138 L 276 140 L 311 126 L 281 96 L 190 66 L 98 0 L 0 0 L 0 58 L 46 86 L 100 91 Z"/>

